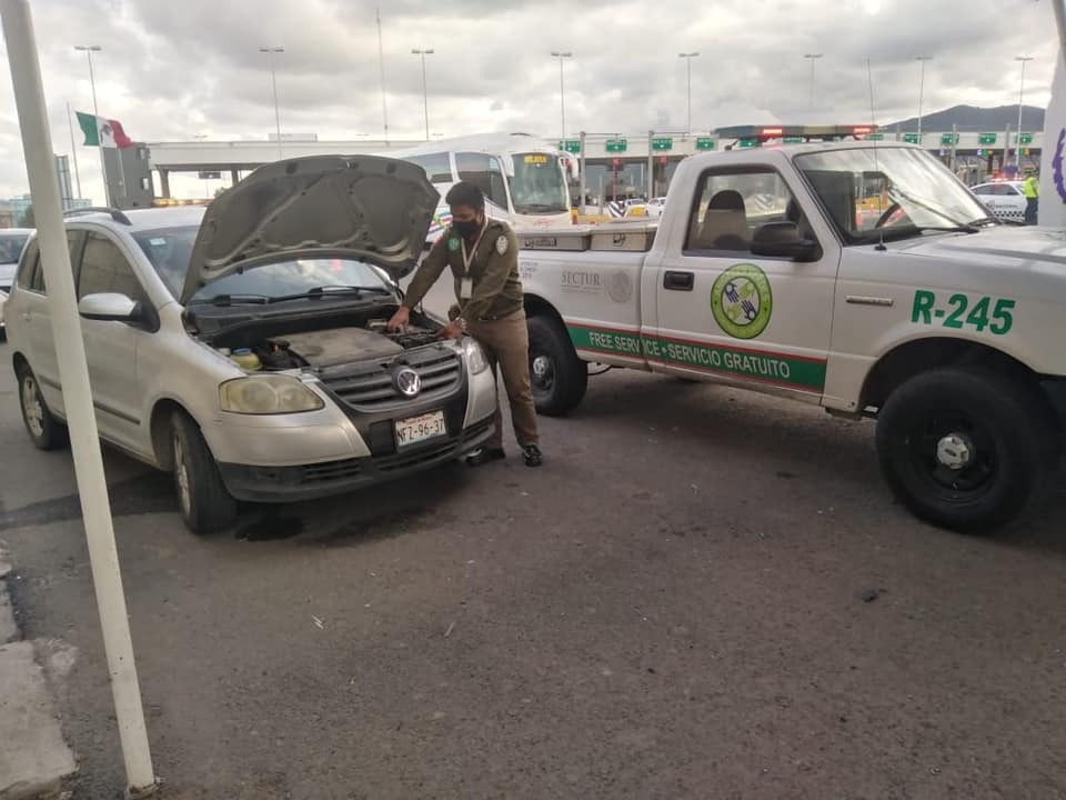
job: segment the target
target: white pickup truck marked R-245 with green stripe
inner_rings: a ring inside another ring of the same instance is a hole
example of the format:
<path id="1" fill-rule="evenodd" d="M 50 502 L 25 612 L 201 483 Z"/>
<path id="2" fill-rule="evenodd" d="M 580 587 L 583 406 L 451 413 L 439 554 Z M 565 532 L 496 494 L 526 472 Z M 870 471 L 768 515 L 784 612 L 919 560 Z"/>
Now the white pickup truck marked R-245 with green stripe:
<path id="1" fill-rule="evenodd" d="M 892 489 L 961 531 L 1014 519 L 1055 473 L 1066 238 L 992 219 L 919 148 L 695 156 L 656 224 L 522 246 L 542 413 L 574 408 L 597 362 L 875 418 Z"/>

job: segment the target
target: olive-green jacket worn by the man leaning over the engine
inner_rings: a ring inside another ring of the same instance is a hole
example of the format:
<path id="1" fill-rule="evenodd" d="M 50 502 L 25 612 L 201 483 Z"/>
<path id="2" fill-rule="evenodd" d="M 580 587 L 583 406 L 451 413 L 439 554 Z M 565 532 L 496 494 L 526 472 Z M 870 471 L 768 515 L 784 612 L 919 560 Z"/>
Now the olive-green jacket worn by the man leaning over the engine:
<path id="1" fill-rule="evenodd" d="M 469 243 L 467 243 L 469 246 Z M 473 292 L 469 300 L 461 296 L 463 281 L 463 248 L 461 237 L 446 228 L 422 260 L 403 304 L 418 306 L 436 282 L 445 267 L 452 270 L 455 299 L 463 319 L 476 322 L 499 319 L 522 308 L 522 281 L 519 280 L 519 240 L 506 222 L 490 219 L 481 243 L 470 263 Z"/>

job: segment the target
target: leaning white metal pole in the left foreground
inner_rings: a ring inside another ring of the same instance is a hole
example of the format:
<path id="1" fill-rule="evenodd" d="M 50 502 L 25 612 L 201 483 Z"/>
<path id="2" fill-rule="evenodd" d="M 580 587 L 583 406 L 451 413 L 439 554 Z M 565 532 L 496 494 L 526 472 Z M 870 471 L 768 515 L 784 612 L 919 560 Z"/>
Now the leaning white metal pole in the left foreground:
<path id="1" fill-rule="evenodd" d="M 89 544 L 92 583 L 100 611 L 103 647 L 108 657 L 114 713 L 119 726 L 127 787 L 131 794 L 154 791 L 144 726 L 144 710 L 133 661 L 122 574 L 111 523 L 108 484 L 93 416 L 86 349 L 74 299 L 74 281 L 67 250 L 67 232 L 59 199 L 52 137 L 41 83 L 41 68 L 28 0 L 0 0 L 0 17 L 8 47 L 11 81 L 22 133 L 22 150 L 37 218 L 41 264 L 48 283 L 52 339 L 63 386 L 63 404 L 70 428 L 78 496 Z"/>

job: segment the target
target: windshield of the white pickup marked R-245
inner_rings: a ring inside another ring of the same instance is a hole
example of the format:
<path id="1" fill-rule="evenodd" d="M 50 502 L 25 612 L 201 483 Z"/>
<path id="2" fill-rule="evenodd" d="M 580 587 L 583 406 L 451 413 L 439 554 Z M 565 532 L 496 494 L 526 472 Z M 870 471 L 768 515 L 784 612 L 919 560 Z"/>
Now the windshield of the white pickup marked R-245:
<path id="1" fill-rule="evenodd" d="M 936 158 L 911 148 L 826 150 L 796 156 L 845 242 L 966 228 L 987 210 Z"/>

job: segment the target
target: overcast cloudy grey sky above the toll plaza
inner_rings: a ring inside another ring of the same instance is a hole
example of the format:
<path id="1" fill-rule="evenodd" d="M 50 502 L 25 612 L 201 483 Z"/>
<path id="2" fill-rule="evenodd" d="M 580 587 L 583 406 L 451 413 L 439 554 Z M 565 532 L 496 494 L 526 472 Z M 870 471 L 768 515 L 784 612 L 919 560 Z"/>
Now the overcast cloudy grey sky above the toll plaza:
<path id="1" fill-rule="evenodd" d="M 685 63 L 692 62 L 693 129 L 808 114 L 869 120 L 866 60 L 881 122 L 917 110 L 1018 100 L 1016 56 L 1033 56 L 1025 100 L 1045 106 L 1056 36 L 1052 0 L 30 0 L 53 148 L 71 150 L 66 103 L 91 111 L 84 53 L 94 56 L 100 114 L 139 141 L 265 139 L 273 99 L 264 44 L 279 44 L 282 132 L 320 139 L 381 138 L 375 8 L 381 8 L 385 91 L 393 138 L 523 130 L 557 138 L 559 62 L 571 50 L 569 132 L 684 129 Z M 0 81 L 0 197 L 28 191 L 4 48 Z M 76 121 L 77 128 L 77 121 Z M 82 193 L 102 199 L 99 159 L 76 130 Z M 201 194 L 194 178 L 172 184 Z"/>

